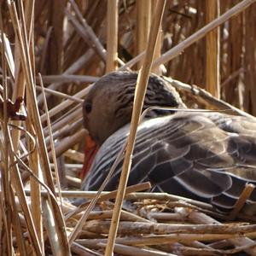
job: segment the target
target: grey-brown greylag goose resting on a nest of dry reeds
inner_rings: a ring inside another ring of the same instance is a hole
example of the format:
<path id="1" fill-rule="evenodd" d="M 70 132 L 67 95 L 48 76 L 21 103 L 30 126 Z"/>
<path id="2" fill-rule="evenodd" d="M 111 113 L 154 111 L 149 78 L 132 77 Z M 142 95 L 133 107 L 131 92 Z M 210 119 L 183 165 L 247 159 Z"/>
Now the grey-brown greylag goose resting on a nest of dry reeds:
<path id="1" fill-rule="evenodd" d="M 113 72 L 84 99 L 84 127 L 100 147 L 84 177 L 96 190 L 107 176 L 129 131 L 137 73 Z M 152 74 L 143 108 L 186 108 L 177 91 Z M 181 195 L 230 210 L 256 172 L 256 121 L 218 112 L 152 110 L 139 125 L 128 185 L 149 181 L 153 191 Z M 106 190 L 117 189 L 122 161 Z M 240 170 L 245 177 L 233 171 Z M 253 191 L 249 202 L 256 201 Z"/>

